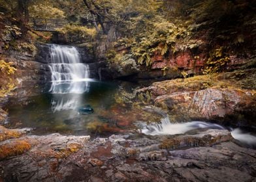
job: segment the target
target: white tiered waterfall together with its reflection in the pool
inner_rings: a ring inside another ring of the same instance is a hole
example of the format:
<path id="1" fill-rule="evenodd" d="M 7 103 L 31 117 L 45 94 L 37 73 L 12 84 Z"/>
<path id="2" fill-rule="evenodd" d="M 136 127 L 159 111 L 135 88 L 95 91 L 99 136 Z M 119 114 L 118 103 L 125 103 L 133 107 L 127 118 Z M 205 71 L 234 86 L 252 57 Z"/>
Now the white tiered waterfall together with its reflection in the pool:
<path id="1" fill-rule="evenodd" d="M 52 82 L 49 92 L 53 94 L 52 112 L 75 110 L 80 106 L 82 94 L 89 92 L 89 66 L 82 63 L 76 47 L 51 45 Z"/>

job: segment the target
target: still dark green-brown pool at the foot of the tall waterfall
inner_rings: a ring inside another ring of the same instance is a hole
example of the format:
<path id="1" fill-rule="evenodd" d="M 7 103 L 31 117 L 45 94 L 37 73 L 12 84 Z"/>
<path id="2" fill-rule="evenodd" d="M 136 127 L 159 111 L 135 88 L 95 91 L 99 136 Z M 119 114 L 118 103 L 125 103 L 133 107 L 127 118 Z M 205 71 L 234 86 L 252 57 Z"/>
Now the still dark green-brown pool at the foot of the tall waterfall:
<path id="1" fill-rule="evenodd" d="M 95 133 L 88 129 L 91 122 L 114 125 L 115 121 L 109 117 L 104 118 L 104 114 L 111 112 L 110 108 L 116 104 L 114 98 L 120 88 L 131 92 L 131 88 L 135 86 L 132 83 L 92 82 L 89 83 L 89 92 L 84 94 L 45 92 L 19 102 L 16 102 L 16 98 L 11 98 L 6 108 L 9 113 L 6 125 L 12 128 L 33 128 L 32 133 L 37 135 L 91 135 Z M 78 107 L 83 105 L 91 105 L 94 112 L 80 114 Z"/>

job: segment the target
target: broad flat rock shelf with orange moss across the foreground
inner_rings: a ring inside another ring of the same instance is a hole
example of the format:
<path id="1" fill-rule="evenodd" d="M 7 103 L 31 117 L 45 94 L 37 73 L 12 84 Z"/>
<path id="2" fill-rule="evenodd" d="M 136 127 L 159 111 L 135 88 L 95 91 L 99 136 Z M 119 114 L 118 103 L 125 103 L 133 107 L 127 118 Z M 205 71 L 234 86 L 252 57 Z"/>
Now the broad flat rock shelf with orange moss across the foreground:
<path id="1" fill-rule="evenodd" d="M 0 132 L 5 135 L 0 143 L 4 181 L 253 181 L 256 177 L 256 151 L 236 144 L 225 130 L 93 140 L 7 131 Z"/>

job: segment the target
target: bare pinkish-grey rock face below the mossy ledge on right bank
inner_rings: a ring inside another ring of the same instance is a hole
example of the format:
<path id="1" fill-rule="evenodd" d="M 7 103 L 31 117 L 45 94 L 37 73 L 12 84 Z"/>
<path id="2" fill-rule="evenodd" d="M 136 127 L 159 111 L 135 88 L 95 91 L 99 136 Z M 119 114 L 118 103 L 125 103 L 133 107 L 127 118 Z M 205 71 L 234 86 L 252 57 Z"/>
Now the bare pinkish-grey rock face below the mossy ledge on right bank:
<path id="1" fill-rule="evenodd" d="M 249 90 L 214 89 L 195 92 L 174 92 L 155 98 L 155 105 L 171 112 L 187 114 L 190 118 L 209 120 L 242 111 L 255 104 L 255 92 Z"/>

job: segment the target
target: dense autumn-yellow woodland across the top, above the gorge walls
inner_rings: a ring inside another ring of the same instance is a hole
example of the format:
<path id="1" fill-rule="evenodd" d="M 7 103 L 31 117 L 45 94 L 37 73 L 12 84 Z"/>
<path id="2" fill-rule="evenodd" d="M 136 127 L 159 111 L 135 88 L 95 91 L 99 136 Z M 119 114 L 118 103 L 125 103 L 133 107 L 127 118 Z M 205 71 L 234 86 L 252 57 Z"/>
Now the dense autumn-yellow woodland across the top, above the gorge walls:
<path id="1" fill-rule="evenodd" d="M 210 73 L 225 70 L 231 55 L 255 55 L 255 7 L 255 1 L 246 0 L 5 0 L 1 19 L 8 19 L 7 34 L 11 31 L 18 41 L 29 36 L 31 44 L 49 42 L 52 34 L 33 31 L 29 17 L 66 19 L 67 25 L 58 29 L 62 42 L 93 47 L 107 40 L 104 57 L 110 64 L 150 66 L 155 53 L 168 57 L 189 51 L 195 59 L 204 53 L 204 73 Z M 7 41 L 6 49 L 20 46 L 15 41 Z M 118 45 L 127 47 L 127 52 L 116 52 Z"/>

